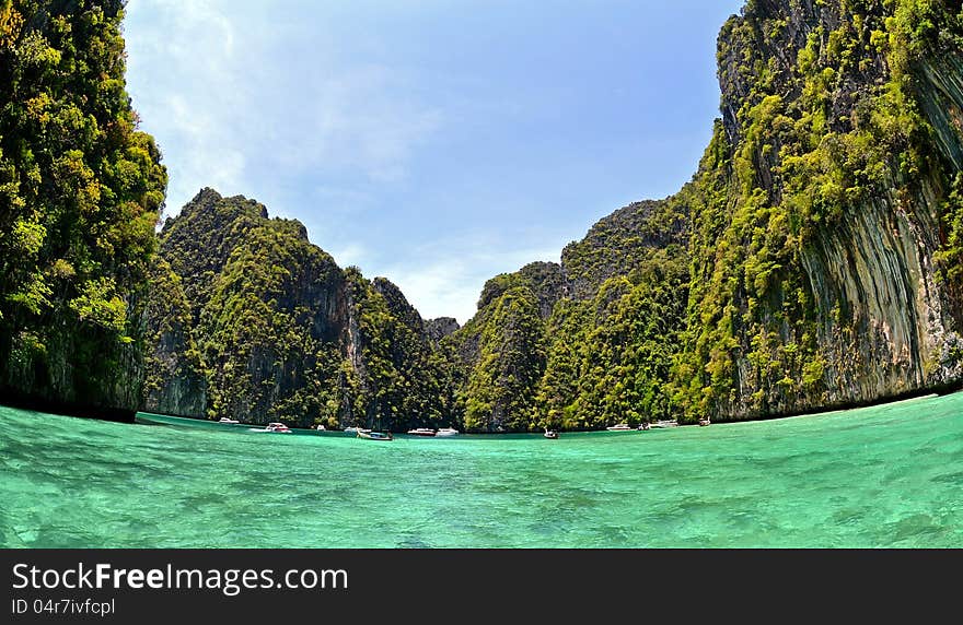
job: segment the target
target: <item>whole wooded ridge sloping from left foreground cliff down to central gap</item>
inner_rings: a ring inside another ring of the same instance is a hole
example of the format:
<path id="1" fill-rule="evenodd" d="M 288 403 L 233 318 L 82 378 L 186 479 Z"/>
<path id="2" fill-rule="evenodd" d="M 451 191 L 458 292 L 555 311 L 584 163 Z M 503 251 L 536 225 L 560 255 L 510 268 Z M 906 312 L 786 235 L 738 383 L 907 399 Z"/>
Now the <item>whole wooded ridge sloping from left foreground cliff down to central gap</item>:
<path id="1" fill-rule="evenodd" d="M 161 234 L 143 409 L 301 426 L 448 423 L 417 310 L 302 224 L 204 189 Z"/>

